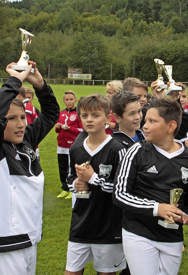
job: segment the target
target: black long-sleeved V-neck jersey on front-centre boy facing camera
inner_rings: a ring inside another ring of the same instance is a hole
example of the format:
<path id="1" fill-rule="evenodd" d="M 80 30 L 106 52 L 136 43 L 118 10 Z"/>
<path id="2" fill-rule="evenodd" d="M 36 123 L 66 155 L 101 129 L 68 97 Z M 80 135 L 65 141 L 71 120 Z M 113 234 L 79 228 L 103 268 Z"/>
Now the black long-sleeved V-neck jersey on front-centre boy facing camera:
<path id="1" fill-rule="evenodd" d="M 77 179 L 75 164 L 90 161 L 95 173 L 88 183 L 92 192 L 89 199 L 77 198 L 71 218 L 69 241 L 91 244 L 116 244 L 122 242 L 122 210 L 112 201 L 113 182 L 118 163 L 125 148 L 111 136 L 94 151 L 86 140 L 70 147 L 70 172 L 67 179 L 70 191 Z"/>

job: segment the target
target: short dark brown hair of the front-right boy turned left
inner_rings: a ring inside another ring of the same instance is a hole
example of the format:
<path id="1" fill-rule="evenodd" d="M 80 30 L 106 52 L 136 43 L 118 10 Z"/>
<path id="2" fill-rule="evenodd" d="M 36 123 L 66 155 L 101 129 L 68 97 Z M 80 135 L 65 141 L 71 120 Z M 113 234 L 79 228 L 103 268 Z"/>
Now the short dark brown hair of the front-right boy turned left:
<path id="1" fill-rule="evenodd" d="M 172 120 L 176 121 L 177 128 L 174 131 L 174 136 L 177 134 L 182 122 L 182 107 L 176 100 L 170 100 L 169 98 L 154 98 L 146 104 L 145 108 L 146 110 L 156 108 L 165 123 L 169 123 Z"/>

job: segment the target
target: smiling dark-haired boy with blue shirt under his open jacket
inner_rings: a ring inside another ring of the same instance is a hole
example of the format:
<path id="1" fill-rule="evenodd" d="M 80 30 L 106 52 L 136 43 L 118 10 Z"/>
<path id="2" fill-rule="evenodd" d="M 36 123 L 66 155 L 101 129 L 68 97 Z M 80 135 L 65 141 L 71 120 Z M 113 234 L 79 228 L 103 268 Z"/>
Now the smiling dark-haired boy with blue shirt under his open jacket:
<path id="1" fill-rule="evenodd" d="M 112 112 L 119 130 L 113 130 L 112 137 L 122 143 L 126 149 L 136 141 L 144 139 L 140 129 L 142 111 L 140 96 L 129 91 L 117 92 L 112 97 Z"/>

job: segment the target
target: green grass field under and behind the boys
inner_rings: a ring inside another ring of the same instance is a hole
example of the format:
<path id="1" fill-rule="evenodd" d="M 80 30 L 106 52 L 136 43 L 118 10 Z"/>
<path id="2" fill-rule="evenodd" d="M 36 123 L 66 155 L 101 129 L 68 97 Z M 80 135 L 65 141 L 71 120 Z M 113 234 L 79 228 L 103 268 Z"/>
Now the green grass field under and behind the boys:
<path id="1" fill-rule="evenodd" d="M 24 86 L 31 86 L 26 85 Z M 65 108 L 63 104 L 63 92 L 73 90 L 80 96 L 100 92 L 105 94 L 105 86 L 82 86 L 82 85 L 51 85 L 60 109 Z M 37 99 L 33 105 L 40 109 Z M 58 199 L 56 196 L 61 192 L 61 182 L 58 173 L 57 162 L 57 134 L 51 132 L 39 145 L 41 166 L 45 175 L 45 186 L 43 196 L 43 239 L 38 243 L 36 275 L 59 275 L 64 274 L 66 266 L 66 251 L 71 219 L 71 200 Z M 187 249 L 183 254 L 182 265 L 179 275 L 188 274 L 188 229 L 184 230 L 185 245 Z M 94 275 L 96 271 L 92 263 L 85 267 L 85 275 Z M 141 274 L 140 274 L 141 275 Z"/>

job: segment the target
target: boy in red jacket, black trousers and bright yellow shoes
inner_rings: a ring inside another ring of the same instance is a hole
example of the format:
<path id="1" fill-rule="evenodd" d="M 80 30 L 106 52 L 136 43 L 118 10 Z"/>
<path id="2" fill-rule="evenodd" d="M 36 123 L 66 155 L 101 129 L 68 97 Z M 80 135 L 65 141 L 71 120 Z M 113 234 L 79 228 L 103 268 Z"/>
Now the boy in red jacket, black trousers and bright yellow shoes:
<path id="1" fill-rule="evenodd" d="M 68 152 L 75 138 L 83 131 L 83 127 L 77 116 L 76 107 L 74 106 L 76 103 L 75 92 L 70 90 L 66 91 L 63 95 L 63 102 L 66 105 L 66 109 L 60 112 L 55 128 L 56 133 L 58 133 L 58 166 L 62 183 L 61 188 L 63 189 L 57 198 L 70 199 L 72 194 L 71 192 L 69 193 L 66 182 L 68 175 Z"/>

